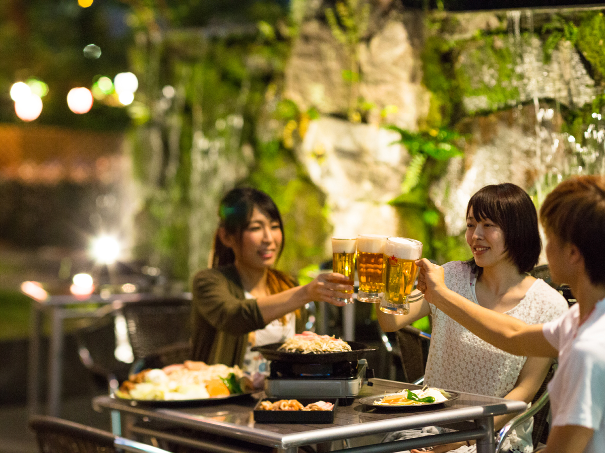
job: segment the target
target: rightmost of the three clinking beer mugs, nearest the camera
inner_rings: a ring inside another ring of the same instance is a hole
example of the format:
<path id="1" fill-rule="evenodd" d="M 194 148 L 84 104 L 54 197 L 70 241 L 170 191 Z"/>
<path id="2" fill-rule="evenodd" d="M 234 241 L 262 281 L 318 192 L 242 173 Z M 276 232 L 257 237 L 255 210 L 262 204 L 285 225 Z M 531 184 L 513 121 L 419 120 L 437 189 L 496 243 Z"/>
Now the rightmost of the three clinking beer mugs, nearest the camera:
<path id="1" fill-rule="evenodd" d="M 384 294 L 380 309 L 394 315 L 410 313 L 408 295 L 418 274 L 416 260 L 422 256 L 422 242 L 407 237 L 389 237 L 385 245 Z"/>

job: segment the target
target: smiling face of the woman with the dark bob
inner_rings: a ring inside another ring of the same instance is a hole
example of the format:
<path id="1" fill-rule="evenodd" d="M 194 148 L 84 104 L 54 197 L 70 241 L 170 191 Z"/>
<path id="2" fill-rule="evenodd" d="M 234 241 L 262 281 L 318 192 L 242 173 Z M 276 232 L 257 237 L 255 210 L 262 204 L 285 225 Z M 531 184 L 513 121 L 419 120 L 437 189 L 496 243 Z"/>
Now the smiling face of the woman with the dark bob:
<path id="1" fill-rule="evenodd" d="M 466 243 L 480 268 L 508 260 L 502 228 L 490 219 L 475 219 L 473 207 L 469 209 L 466 219 Z"/>

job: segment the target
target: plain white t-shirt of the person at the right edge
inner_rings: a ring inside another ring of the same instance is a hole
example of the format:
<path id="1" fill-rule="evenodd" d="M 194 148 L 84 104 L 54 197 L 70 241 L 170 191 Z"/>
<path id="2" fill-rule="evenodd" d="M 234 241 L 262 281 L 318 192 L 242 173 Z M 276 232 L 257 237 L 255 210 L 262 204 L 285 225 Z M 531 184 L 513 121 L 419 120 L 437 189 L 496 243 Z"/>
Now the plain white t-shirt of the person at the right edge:
<path id="1" fill-rule="evenodd" d="M 578 328 L 575 304 L 542 332 L 559 352 L 559 367 L 548 385 L 552 426 L 580 425 L 595 430 L 584 453 L 605 451 L 605 299 Z"/>

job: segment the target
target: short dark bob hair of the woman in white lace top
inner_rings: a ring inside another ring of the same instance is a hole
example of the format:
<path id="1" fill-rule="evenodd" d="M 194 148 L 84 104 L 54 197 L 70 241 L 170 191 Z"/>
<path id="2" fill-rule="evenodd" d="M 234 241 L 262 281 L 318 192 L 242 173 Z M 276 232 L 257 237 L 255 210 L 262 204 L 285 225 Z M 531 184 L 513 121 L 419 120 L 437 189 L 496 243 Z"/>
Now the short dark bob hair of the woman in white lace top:
<path id="1" fill-rule="evenodd" d="M 476 220 L 490 219 L 502 228 L 506 252 L 518 271 L 531 271 L 540 258 L 542 242 L 538 214 L 527 192 L 509 182 L 486 185 L 469 200 L 466 218 L 471 208 Z M 468 263 L 477 276 L 482 274 L 474 258 Z"/>

